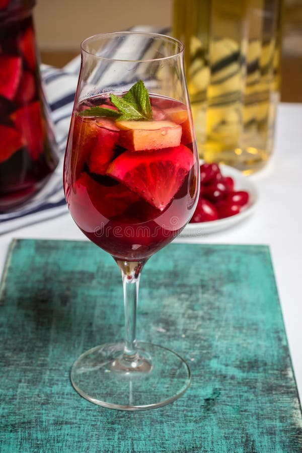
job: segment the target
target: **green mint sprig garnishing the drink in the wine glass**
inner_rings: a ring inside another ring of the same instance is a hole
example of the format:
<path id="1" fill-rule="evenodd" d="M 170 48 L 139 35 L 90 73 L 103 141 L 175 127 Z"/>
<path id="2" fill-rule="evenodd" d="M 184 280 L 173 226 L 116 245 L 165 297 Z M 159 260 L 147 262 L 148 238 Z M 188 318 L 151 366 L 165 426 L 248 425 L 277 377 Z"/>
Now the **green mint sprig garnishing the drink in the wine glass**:
<path id="1" fill-rule="evenodd" d="M 80 112 L 80 115 L 102 116 L 119 121 L 153 119 L 149 93 L 142 80 L 136 82 L 123 96 L 116 96 L 112 93 L 109 99 L 118 111 L 106 107 L 91 107 Z"/>

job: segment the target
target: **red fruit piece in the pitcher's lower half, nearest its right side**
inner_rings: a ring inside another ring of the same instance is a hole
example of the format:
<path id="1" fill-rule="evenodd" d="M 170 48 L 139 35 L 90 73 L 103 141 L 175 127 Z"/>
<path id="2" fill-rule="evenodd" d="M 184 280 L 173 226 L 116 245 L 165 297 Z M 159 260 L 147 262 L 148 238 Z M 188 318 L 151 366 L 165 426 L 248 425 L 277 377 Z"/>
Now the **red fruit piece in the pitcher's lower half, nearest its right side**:
<path id="1" fill-rule="evenodd" d="M 43 152 L 43 124 L 39 101 L 15 110 L 10 118 L 16 129 L 25 137 L 31 158 L 39 159 Z"/>

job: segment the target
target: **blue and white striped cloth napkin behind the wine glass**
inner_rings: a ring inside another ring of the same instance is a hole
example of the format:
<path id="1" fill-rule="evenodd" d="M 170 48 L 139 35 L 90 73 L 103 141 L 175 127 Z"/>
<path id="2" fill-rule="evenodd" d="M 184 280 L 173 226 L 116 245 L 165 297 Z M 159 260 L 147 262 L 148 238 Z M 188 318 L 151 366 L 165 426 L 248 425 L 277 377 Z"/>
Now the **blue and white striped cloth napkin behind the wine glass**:
<path id="1" fill-rule="evenodd" d="M 137 26 L 131 30 L 163 34 L 168 32 L 168 28 L 149 26 Z M 80 55 L 62 69 L 41 65 L 41 75 L 54 123 L 60 161 L 51 178 L 39 193 L 14 212 L 0 214 L 0 234 L 67 213 L 63 193 L 63 160 L 80 66 Z"/>

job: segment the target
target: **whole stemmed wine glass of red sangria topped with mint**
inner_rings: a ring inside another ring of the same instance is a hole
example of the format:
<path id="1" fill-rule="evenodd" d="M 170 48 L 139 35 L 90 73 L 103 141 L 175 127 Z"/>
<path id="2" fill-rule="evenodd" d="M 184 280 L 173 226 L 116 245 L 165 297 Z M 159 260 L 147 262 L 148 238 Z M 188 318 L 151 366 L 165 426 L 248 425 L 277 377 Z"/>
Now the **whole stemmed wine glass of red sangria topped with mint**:
<path id="1" fill-rule="evenodd" d="M 156 408 L 191 381 L 177 353 L 135 337 L 141 270 L 183 230 L 198 199 L 184 47 L 165 35 L 117 32 L 88 38 L 81 49 L 64 191 L 75 223 L 121 270 L 125 341 L 83 353 L 71 383 L 101 406 Z"/>

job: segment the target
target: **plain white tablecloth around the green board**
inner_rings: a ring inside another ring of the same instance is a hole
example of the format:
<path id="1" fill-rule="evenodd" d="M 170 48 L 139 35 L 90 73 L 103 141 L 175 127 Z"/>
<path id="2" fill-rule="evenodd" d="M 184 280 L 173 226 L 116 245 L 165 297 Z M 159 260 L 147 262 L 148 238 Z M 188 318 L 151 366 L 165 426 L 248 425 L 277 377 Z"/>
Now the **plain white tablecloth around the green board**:
<path id="1" fill-rule="evenodd" d="M 281 104 L 275 150 L 268 165 L 250 176 L 259 191 L 255 212 L 229 230 L 182 242 L 268 244 L 274 265 L 284 323 L 302 395 L 302 104 Z M 0 236 L 0 271 L 13 238 L 83 240 L 70 215 L 27 226 Z"/>

